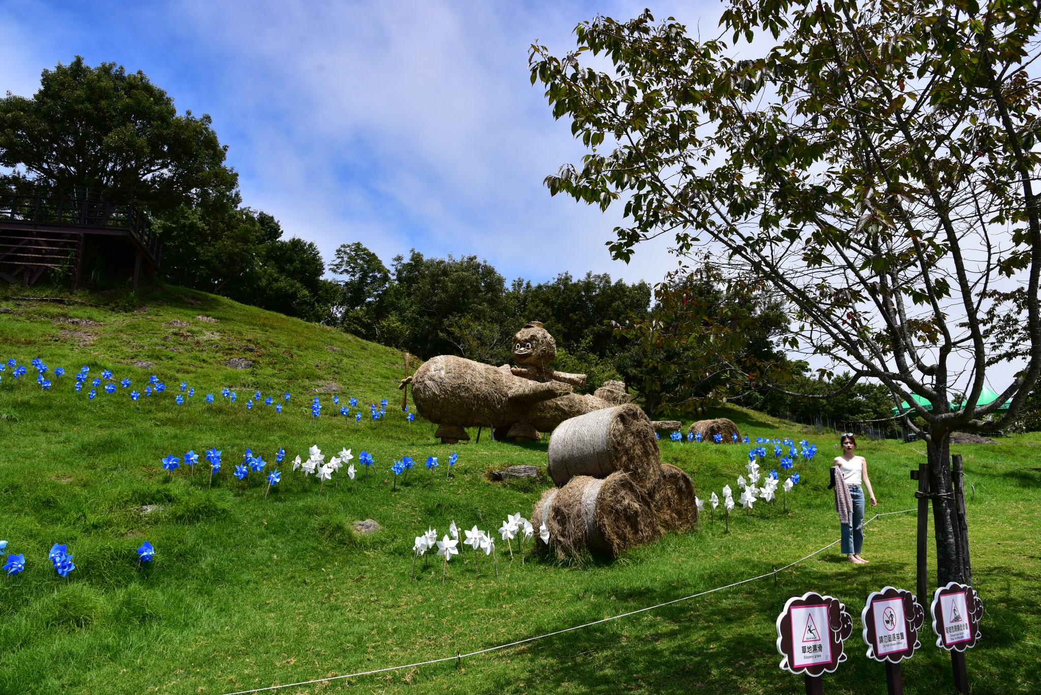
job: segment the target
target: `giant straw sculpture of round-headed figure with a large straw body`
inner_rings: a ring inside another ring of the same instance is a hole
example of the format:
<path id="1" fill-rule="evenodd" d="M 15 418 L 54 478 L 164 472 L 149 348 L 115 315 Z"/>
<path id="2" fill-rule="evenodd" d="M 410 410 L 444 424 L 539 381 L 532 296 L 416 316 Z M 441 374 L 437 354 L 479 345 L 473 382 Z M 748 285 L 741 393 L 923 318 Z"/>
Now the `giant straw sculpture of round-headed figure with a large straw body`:
<path id="1" fill-rule="evenodd" d="M 585 386 L 586 375 L 549 368 L 557 343 L 538 321 L 525 324 L 512 347 L 516 367 L 439 355 L 402 382 L 412 384 L 420 415 L 440 425 L 434 436 L 442 443 L 468 440 L 463 428 L 478 426 L 491 427 L 496 439 L 538 439 L 564 420 L 630 400 L 618 381 L 591 396 L 574 393 L 574 387 Z"/>

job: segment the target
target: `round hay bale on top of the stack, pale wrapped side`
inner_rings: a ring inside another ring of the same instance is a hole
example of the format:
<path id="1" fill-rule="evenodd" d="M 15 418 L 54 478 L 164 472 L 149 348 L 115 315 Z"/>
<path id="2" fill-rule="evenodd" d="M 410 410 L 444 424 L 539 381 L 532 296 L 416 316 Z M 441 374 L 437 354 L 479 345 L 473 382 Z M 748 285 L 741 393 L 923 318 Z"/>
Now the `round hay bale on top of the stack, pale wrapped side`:
<path id="1" fill-rule="evenodd" d="M 562 487 L 577 475 L 629 474 L 646 493 L 661 475 L 651 420 L 636 405 L 616 405 L 565 420 L 550 439 L 550 477 Z"/>

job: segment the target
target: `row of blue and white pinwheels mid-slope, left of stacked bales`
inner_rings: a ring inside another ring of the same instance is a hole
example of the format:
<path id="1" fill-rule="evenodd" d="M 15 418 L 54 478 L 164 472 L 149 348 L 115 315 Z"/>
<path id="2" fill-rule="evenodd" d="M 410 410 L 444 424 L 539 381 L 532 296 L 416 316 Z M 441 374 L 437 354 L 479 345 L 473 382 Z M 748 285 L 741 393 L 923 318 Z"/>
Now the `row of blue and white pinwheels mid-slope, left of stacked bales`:
<path id="1" fill-rule="evenodd" d="M 308 449 L 308 455 L 306 460 L 302 460 L 299 455 L 293 462 L 293 471 L 301 471 L 304 475 L 304 479 L 307 479 L 308 475 L 314 475 L 320 480 L 319 482 L 319 494 L 322 494 L 322 490 L 325 487 L 325 481 L 332 478 L 333 474 L 338 472 L 340 468 L 347 466 L 347 475 L 351 480 L 356 480 L 356 470 L 354 464 L 351 461 L 354 458 L 354 454 L 351 453 L 351 449 L 344 447 L 340 449 L 339 453 L 331 456 L 329 461 L 326 461 L 326 454 L 322 453 L 322 449 L 318 445 L 311 445 Z M 222 456 L 224 452 L 219 450 L 217 447 L 210 447 L 206 449 L 203 455 L 206 457 L 206 462 L 209 464 L 209 481 L 210 485 L 213 482 L 213 476 L 221 472 Z M 195 474 L 195 467 L 199 463 L 199 454 L 195 450 L 189 450 L 183 454 L 183 456 L 175 456 L 174 454 L 167 454 L 161 460 L 163 470 L 168 471 L 171 478 L 173 478 L 174 471 L 181 468 L 181 462 L 183 461 L 184 466 L 187 467 L 192 474 Z M 285 449 L 279 447 L 278 452 L 275 454 L 275 463 L 281 464 L 285 461 Z M 452 470 L 452 467 L 456 465 L 459 461 L 459 455 L 456 452 L 452 452 L 449 455 L 448 467 L 446 467 L 446 476 Z M 246 449 L 243 454 L 243 463 L 235 465 L 234 476 L 239 480 L 246 480 L 250 472 L 260 473 L 264 475 L 264 467 L 268 466 L 266 461 L 263 460 L 261 454 L 254 454 L 252 449 Z M 365 474 L 369 474 L 369 469 L 376 465 L 376 460 L 373 454 L 367 451 L 362 451 L 358 454 L 358 463 L 365 467 Z M 415 465 L 415 462 L 411 456 L 402 456 L 400 460 L 395 461 L 393 465 L 390 467 L 391 472 L 395 475 L 395 488 L 398 487 L 398 476 L 404 474 L 408 476 L 408 471 L 410 471 Z M 433 471 L 438 467 L 437 456 L 428 456 L 426 463 L 427 469 L 430 471 L 431 476 L 433 476 Z M 282 479 L 282 472 L 275 469 L 268 471 L 265 475 L 265 480 L 268 481 L 268 488 L 264 491 L 264 497 L 271 492 L 272 486 L 278 485 Z M 338 478 L 337 478 L 337 485 Z"/>

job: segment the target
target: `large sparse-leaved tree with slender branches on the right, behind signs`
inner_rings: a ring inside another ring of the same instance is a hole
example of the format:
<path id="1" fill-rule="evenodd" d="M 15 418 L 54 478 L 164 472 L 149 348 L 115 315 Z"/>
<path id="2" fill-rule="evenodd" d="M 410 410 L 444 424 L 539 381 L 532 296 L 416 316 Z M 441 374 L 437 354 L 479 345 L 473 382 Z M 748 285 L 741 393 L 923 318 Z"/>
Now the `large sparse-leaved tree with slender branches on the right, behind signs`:
<path id="1" fill-rule="evenodd" d="M 791 307 L 785 346 L 909 403 L 949 491 L 950 432 L 1011 423 L 1041 371 L 1039 21 L 1017 0 L 731 0 L 727 35 L 701 41 L 650 13 L 598 17 L 563 57 L 532 47 L 532 81 L 590 148 L 547 182 L 624 204 L 617 258 L 671 233 L 768 283 Z M 1016 374 L 982 404 L 1001 359 Z M 939 581 L 962 580 L 954 504 L 933 504 Z"/>

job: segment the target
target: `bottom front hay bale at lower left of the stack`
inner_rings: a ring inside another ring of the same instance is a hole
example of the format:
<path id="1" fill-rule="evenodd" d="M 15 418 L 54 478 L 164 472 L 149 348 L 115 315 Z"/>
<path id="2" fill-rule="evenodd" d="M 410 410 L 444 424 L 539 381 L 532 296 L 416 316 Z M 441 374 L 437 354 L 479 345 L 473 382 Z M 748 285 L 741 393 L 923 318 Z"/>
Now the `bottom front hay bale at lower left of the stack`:
<path id="1" fill-rule="evenodd" d="M 583 550 L 617 557 L 626 548 L 661 536 L 646 497 L 620 472 L 603 479 L 580 475 L 547 491 L 532 511 L 536 527 L 543 521 L 550 549 L 559 557 L 576 557 Z M 541 539 L 536 547 L 545 548 Z"/>

